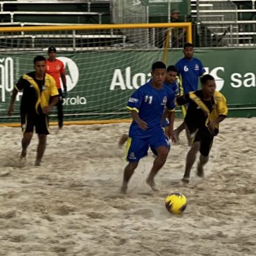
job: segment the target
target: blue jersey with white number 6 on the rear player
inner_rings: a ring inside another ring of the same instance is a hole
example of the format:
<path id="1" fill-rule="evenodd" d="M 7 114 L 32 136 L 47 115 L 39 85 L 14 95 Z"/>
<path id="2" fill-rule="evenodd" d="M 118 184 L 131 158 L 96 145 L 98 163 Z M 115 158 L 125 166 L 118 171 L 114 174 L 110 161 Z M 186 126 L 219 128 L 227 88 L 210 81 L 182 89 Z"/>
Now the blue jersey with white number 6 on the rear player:
<path id="1" fill-rule="evenodd" d="M 175 66 L 179 75 L 181 95 L 190 91 L 197 91 L 199 77 L 205 73 L 205 68 L 203 68 L 201 61 L 196 58 L 187 60 L 183 57 Z"/>

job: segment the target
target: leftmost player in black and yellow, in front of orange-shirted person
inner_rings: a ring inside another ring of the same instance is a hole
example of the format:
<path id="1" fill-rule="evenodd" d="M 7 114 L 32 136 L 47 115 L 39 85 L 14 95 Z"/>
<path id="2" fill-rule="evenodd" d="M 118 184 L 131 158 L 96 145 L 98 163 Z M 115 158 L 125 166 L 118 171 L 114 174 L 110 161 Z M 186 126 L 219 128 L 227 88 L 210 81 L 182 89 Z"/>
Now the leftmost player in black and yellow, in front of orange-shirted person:
<path id="1" fill-rule="evenodd" d="M 45 73 L 46 59 L 43 56 L 35 57 L 34 68 L 35 71 L 22 75 L 15 85 L 8 114 L 11 115 L 14 110 L 18 91 L 23 91 L 20 105 L 23 131 L 21 158 L 26 158 L 35 127 L 39 140 L 35 165 L 40 165 L 46 148 L 46 136 L 49 134 L 48 113 L 57 104 L 59 93 L 53 77 Z"/>

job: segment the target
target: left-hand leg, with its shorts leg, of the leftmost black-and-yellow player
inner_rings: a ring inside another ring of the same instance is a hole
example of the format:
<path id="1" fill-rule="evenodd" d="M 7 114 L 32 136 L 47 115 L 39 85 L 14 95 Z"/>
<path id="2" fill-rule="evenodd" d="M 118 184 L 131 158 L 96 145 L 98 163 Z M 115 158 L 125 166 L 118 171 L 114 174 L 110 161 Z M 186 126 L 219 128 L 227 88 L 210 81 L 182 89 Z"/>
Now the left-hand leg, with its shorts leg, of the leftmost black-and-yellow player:
<path id="1" fill-rule="evenodd" d="M 27 149 L 33 137 L 34 122 L 33 117 L 28 113 L 21 112 L 21 129 L 23 138 L 21 139 L 21 158 L 26 158 Z"/>

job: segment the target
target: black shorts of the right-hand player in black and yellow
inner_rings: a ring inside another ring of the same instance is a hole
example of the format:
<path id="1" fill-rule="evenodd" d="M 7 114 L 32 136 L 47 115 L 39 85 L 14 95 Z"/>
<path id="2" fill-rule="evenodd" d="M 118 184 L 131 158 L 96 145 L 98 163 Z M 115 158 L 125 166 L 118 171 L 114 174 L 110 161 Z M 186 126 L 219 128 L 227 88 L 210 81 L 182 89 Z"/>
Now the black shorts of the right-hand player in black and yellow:
<path id="1" fill-rule="evenodd" d="M 207 127 L 199 128 L 194 134 L 193 143 L 200 142 L 200 153 L 203 156 L 209 156 L 210 149 L 212 148 L 214 136 L 210 133 Z"/>

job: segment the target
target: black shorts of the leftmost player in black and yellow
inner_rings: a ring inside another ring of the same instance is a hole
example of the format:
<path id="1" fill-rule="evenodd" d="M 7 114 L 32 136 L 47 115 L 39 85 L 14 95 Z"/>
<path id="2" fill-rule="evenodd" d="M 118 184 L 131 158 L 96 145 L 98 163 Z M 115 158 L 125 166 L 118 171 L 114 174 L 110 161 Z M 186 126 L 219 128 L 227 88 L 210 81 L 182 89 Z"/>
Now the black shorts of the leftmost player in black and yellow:
<path id="1" fill-rule="evenodd" d="M 50 134 L 47 115 L 44 113 L 21 112 L 21 129 L 23 133 L 33 132 L 34 126 L 37 134 Z"/>

